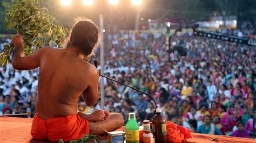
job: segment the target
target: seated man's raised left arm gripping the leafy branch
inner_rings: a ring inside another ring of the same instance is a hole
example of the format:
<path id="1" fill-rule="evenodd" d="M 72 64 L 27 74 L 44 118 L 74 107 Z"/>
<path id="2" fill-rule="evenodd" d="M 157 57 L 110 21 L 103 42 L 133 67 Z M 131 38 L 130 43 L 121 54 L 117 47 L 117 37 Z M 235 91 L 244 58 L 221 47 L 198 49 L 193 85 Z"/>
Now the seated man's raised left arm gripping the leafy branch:
<path id="1" fill-rule="evenodd" d="M 23 38 L 21 34 L 17 34 L 12 39 L 12 45 L 15 47 L 14 56 L 12 57 L 12 67 L 18 70 L 29 70 L 39 67 L 40 56 L 45 48 L 41 48 L 32 55 L 22 56 L 24 50 Z"/>

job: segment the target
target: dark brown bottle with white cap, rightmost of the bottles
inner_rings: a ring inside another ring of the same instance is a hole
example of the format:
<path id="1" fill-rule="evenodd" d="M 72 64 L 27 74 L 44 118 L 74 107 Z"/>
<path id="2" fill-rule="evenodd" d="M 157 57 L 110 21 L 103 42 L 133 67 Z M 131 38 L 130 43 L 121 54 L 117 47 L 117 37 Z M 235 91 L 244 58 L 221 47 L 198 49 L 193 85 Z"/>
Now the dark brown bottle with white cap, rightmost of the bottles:
<path id="1" fill-rule="evenodd" d="M 153 133 L 156 137 L 156 142 L 166 142 L 166 120 L 161 115 L 161 109 L 156 109 L 156 115 L 152 119 Z"/>

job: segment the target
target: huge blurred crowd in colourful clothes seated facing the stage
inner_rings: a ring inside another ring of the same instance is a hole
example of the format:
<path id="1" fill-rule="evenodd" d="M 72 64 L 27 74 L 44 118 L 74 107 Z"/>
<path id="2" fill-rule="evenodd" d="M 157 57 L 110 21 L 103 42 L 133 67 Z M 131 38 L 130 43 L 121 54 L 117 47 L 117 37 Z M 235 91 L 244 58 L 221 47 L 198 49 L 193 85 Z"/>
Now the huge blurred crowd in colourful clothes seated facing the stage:
<path id="1" fill-rule="evenodd" d="M 256 89 L 255 47 L 173 35 L 171 46 L 184 47 L 186 56 L 169 53 L 163 33 L 119 32 L 105 38 L 104 74 L 152 95 L 167 120 L 192 132 L 250 138 Z M 95 59 L 99 61 L 99 49 Z M 92 59 L 93 61 L 94 59 Z M 67 69 L 68 70 L 68 69 Z M 99 80 L 101 80 L 100 77 Z M 38 69 L 18 71 L 0 67 L 0 112 L 35 115 Z M 138 91 L 104 78 L 104 109 L 119 112 L 125 123 L 152 120 L 153 101 Z M 100 99 L 78 109 L 100 109 Z"/>

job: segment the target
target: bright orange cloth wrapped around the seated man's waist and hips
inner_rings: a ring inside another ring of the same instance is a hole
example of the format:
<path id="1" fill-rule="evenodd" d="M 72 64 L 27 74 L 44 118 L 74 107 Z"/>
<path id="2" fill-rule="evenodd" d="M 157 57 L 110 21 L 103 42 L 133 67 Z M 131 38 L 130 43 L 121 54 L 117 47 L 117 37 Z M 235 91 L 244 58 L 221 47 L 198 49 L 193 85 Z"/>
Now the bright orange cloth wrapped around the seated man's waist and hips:
<path id="1" fill-rule="evenodd" d="M 31 135 L 38 140 L 70 141 L 80 139 L 89 134 L 89 121 L 79 115 L 51 118 L 43 120 L 36 114 L 32 121 Z"/>

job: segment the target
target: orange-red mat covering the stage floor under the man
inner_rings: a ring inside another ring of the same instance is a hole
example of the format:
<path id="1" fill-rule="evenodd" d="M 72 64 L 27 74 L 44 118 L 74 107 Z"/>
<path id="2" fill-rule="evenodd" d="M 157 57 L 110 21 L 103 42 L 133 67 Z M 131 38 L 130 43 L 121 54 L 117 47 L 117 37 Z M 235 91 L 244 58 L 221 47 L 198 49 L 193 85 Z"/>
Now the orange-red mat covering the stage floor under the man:
<path id="1" fill-rule="evenodd" d="M 32 139 L 30 135 L 32 119 L 0 117 L 0 142 L 46 142 Z M 124 127 L 119 130 L 123 130 Z M 193 138 L 183 142 L 256 142 L 255 139 L 235 138 L 226 135 L 208 135 L 192 133 Z M 105 135 L 103 137 L 107 139 Z M 212 141 L 212 138 L 217 140 Z"/>

